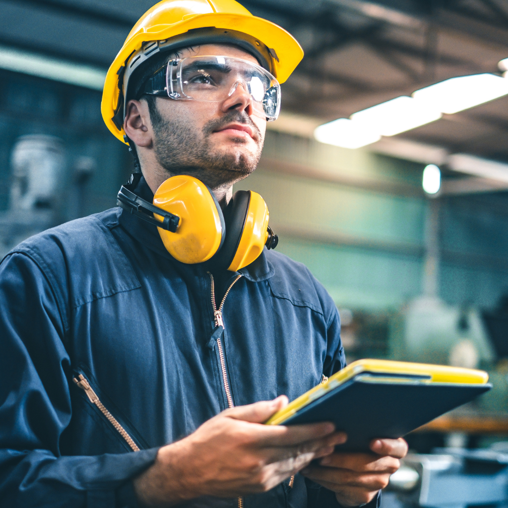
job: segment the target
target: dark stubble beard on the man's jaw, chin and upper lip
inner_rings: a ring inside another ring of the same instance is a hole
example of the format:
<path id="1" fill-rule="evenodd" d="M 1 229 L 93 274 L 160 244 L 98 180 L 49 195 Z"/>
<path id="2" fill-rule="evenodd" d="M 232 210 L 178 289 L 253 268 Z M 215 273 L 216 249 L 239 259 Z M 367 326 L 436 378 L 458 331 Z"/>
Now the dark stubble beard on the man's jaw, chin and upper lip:
<path id="1" fill-rule="evenodd" d="M 153 150 L 157 162 L 173 175 L 190 175 L 210 188 L 230 186 L 250 175 L 258 166 L 263 148 L 263 137 L 258 126 L 243 112 L 231 111 L 221 118 L 209 120 L 200 132 L 186 119 L 153 121 Z M 214 149 L 210 135 L 232 122 L 247 124 L 256 133 L 257 150 L 241 150 L 247 143 L 244 138 L 235 140 L 238 149 Z"/>

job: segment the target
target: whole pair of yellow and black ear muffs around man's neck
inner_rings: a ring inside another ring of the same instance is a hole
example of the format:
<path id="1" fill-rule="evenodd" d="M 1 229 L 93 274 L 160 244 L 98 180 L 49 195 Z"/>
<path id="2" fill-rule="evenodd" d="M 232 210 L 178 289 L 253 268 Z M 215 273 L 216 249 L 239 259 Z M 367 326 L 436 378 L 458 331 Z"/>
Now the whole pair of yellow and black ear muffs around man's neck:
<path id="1" fill-rule="evenodd" d="M 173 258 L 186 264 L 208 261 L 231 271 L 257 259 L 263 247 L 278 243 L 268 226 L 269 213 L 263 198 L 250 190 L 238 190 L 225 214 L 211 189 L 188 175 L 168 178 L 156 190 L 153 204 L 134 194 L 141 175 L 122 185 L 117 204 L 157 226 Z"/>

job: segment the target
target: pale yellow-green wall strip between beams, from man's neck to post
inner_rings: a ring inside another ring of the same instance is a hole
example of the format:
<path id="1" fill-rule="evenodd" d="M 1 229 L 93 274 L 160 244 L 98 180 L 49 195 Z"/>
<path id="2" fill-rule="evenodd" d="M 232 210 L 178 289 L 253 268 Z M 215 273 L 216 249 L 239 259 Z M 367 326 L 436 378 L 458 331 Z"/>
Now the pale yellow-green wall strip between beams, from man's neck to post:
<path id="1" fill-rule="evenodd" d="M 235 186 L 259 192 L 273 225 L 422 245 L 426 202 L 257 170 Z"/>

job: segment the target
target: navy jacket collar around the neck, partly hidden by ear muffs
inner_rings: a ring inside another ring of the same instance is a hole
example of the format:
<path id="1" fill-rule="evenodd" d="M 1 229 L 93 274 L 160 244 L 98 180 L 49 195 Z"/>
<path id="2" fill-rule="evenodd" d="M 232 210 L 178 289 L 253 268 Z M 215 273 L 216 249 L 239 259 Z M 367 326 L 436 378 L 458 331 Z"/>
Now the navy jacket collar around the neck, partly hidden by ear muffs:
<path id="1" fill-rule="evenodd" d="M 134 189 L 134 193 L 149 203 L 153 202 L 153 193 L 144 177 L 141 177 L 141 180 Z M 181 266 L 189 266 L 184 263 L 180 263 L 170 255 L 162 242 L 161 236 L 158 234 L 157 228 L 152 224 L 147 223 L 122 208 L 119 208 L 118 222 L 130 236 L 139 241 L 146 248 L 171 260 L 173 263 L 177 263 Z M 200 263 L 196 266 L 206 268 L 205 263 Z M 261 256 L 256 261 L 252 262 L 245 268 L 240 269 L 237 273 L 241 273 L 247 280 L 251 280 L 252 282 L 260 282 L 272 277 L 275 270 L 270 261 L 268 261 L 265 250 L 263 250 Z"/>

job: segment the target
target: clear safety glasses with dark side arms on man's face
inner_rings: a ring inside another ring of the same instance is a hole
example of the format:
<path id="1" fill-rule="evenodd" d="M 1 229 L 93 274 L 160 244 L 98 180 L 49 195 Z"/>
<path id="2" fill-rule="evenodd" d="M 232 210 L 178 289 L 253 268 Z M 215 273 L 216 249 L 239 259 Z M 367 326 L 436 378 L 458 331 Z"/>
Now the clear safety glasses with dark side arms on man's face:
<path id="1" fill-rule="evenodd" d="M 280 84 L 267 70 L 230 56 L 190 56 L 170 60 L 149 78 L 142 93 L 170 99 L 221 102 L 241 86 L 252 97 L 256 115 L 275 120 Z"/>

